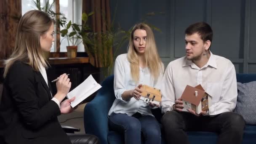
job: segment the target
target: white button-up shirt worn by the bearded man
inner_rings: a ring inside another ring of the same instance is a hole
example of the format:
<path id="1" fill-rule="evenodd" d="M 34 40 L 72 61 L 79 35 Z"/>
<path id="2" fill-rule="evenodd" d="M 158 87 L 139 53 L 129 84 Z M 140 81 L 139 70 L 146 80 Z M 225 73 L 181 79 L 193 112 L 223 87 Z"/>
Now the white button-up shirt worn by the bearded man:
<path id="1" fill-rule="evenodd" d="M 173 110 L 175 100 L 179 99 L 186 87 L 201 84 L 210 96 L 212 106 L 209 115 L 231 112 L 237 101 L 237 80 L 235 67 L 228 59 L 213 55 L 202 68 L 182 57 L 171 61 L 163 77 L 162 112 Z M 187 110 L 184 110 L 187 111 Z"/>

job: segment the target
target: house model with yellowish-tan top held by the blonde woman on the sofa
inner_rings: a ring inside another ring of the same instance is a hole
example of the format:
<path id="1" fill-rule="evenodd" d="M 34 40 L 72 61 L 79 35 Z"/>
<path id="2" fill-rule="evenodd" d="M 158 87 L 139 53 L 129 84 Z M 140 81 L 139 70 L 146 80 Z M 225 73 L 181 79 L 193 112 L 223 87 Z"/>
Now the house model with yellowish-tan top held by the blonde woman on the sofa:
<path id="1" fill-rule="evenodd" d="M 162 94 L 160 89 L 152 88 L 148 85 L 141 86 L 141 97 L 140 99 L 146 103 L 159 104 L 162 99 Z"/>

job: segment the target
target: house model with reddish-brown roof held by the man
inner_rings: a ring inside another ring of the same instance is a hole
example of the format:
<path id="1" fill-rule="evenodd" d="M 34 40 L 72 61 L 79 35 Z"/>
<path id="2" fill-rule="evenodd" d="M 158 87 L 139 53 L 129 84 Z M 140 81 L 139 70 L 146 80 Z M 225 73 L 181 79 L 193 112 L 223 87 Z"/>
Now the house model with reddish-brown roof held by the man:
<path id="1" fill-rule="evenodd" d="M 209 110 L 212 103 L 212 97 L 205 92 L 201 85 L 197 85 L 196 87 L 187 85 L 181 95 L 181 99 L 184 109 L 192 109 L 197 114 Z"/>

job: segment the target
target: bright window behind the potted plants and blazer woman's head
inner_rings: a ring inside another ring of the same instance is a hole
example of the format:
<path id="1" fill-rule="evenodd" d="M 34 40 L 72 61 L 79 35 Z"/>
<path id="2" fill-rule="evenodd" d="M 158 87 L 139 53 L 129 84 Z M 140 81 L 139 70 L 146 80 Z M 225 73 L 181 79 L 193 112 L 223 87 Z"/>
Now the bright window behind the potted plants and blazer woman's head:
<path id="1" fill-rule="evenodd" d="M 40 0 L 41 7 L 44 7 L 49 1 L 49 3 L 53 3 L 54 0 Z M 67 22 L 71 20 L 73 23 L 76 24 L 82 24 L 82 5 L 83 0 L 59 0 L 59 3 L 54 3 L 54 5 L 59 6 L 59 12 L 64 13 L 64 16 L 67 18 Z M 53 8 L 55 8 L 55 6 Z M 22 9 L 22 15 L 30 10 L 37 9 L 33 0 L 21 0 L 21 9 Z M 55 9 L 54 9 L 55 11 Z M 60 30 L 63 29 L 60 27 Z M 70 29 L 71 30 L 71 29 Z M 64 39 L 64 37 L 60 37 L 60 40 L 56 41 L 56 35 L 55 34 L 55 42 L 53 42 L 53 46 L 51 48 L 51 52 L 56 52 L 56 43 L 60 43 L 60 51 L 58 52 L 67 52 L 67 40 Z M 62 40 L 64 39 L 64 40 Z M 62 40 L 62 41 L 61 41 Z M 81 40 L 79 40 L 81 42 Z M 84 52 L 84 45 L 83 43 L 80 43 L 77 45 L 77 52 Z"/>

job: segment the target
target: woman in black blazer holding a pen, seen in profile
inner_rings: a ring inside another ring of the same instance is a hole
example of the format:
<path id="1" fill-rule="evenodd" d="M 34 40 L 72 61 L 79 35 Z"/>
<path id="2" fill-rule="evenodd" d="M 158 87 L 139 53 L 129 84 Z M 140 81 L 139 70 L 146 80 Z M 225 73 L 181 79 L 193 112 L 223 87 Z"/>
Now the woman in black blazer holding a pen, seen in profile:
<path id="1" fill-rule="evenodd" d="M 5 61 L 0 104 L 0 137 L 6 144 L 71 144 L 57 116 L 72 112 L 70 102 L 61 102 L 71 87 L 66 74 L 49 90 L 43 51 L 54 41 L 54 21 L 42 11 L 21 17 L 11 57 Z"/>

